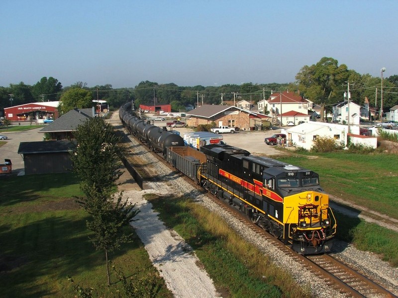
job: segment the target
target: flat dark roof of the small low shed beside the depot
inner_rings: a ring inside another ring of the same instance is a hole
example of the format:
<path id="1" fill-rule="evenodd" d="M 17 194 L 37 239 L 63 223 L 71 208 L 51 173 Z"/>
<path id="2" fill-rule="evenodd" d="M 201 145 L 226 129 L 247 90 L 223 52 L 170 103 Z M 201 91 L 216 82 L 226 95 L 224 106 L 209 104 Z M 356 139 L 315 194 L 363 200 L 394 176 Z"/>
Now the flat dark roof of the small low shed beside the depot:
<path id="1" fill-rule="evenodd" d="M 69 152 L 76 148 L 71 141 L 38 141 L 19 143 L 18 154 Z"/>

